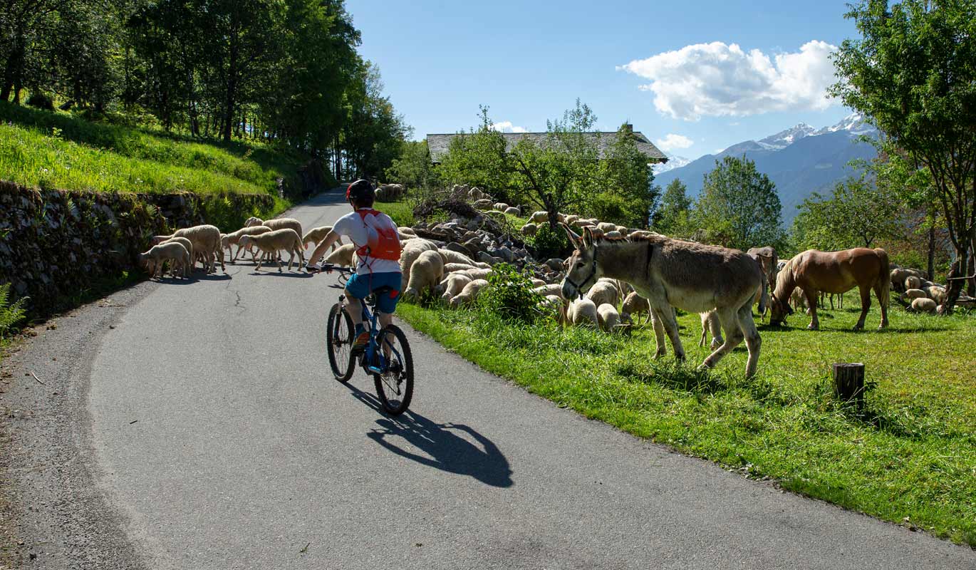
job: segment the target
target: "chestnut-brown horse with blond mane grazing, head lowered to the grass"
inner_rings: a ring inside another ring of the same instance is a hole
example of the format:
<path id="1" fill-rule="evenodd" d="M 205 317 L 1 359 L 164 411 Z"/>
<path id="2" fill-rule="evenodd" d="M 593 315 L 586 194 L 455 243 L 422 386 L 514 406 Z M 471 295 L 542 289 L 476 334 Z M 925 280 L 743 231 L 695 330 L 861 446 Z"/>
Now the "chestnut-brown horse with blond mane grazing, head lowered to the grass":
<path id="1" fill-rule="evenodd" d="M 806 328 L 815 331 L 820 328 L 817 319 L 818 293 L 846 293 L 854 287 L 861 290 L 861 318 L 854 330 L 864 328 L 864 319 L 871 308 L 871 290 L 881 305 L 881 324 L 888 326 L 888 288 L 891 286 L 888 268 L 888 253 L 882 249 L 854 248 L 839 252 L 807 250 L 790 260 L 776 279 L 773 292 L 770 323 L 786 322 L 790 308 L 790 295 L 799 287 L 806 297 L 813 320 Z"/>

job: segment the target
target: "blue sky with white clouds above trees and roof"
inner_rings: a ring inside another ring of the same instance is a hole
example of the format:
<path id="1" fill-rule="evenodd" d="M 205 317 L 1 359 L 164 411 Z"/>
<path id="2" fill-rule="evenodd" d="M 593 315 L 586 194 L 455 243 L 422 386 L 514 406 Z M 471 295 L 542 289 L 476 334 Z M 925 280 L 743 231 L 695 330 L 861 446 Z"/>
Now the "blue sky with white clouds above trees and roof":
<path id="1" fill-rule="evenodd" d="M 828 54 L 856 29 L 845 2 L 492 3 L 347 0 L 360 53 L 414 139 L 477 123 L 543 131 L 577 98 L 696 158 L 848 114 L 823 99 Z"/>

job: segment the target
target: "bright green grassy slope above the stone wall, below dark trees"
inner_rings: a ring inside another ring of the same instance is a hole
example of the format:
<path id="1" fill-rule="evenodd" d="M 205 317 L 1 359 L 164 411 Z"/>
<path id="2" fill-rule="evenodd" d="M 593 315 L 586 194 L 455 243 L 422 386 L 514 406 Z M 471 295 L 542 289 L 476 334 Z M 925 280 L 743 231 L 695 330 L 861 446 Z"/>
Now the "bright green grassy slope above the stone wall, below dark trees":
<path id="1" fill-rule="evenodd" d="M 0 102 L 0 177 L 45 188 L 263 193 L 303 157 L 257 142 L 198 142 Z"/>

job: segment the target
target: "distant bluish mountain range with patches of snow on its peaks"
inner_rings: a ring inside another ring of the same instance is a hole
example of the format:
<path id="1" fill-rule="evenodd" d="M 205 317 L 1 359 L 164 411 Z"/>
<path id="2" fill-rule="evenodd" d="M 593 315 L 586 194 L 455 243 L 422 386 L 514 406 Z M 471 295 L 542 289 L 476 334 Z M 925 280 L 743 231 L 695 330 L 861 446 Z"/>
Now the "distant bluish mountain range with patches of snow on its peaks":
<path id="1" fill-rule="evenodd" d="M 804 198 L 816 191 L 826 193 L 834 183 L 856 174 L 848 165 L 851 160 L 874 158 L 874 146 L 860 138 L 876 134 L 877 130 L 857 113 L 822 129 L 800 123 L 764 139 L 739 142 L 695 160 L 669 155 L 668 163 L 655 168 L 655 183 L 665 187 L 680 179 L 687 185 L 688 195 L 697 197 L 705 174 L 715 168 L 716 160 L 745 155 L 755 162 L 756 170 L 776 184 L 783 204 L 783 222 L 789 225 Z"/>

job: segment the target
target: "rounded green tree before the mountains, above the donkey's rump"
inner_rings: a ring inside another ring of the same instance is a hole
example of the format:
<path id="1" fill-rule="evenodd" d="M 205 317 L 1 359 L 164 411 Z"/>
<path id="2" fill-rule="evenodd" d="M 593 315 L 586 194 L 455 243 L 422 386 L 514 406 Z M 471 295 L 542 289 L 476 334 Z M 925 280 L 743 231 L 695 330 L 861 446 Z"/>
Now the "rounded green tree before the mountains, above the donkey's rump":
<path id="1" fill-rule="evenodd" d="M 776 184 L 745 156 L 715 161 L 714 170 L 705 175 L 695 221 L 712 235 L 722 236 L 717 240 L 722 245 L 743 251 L 778 245 L 784 237 Z"/>

